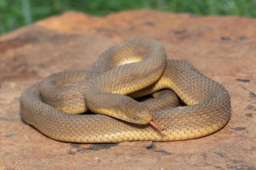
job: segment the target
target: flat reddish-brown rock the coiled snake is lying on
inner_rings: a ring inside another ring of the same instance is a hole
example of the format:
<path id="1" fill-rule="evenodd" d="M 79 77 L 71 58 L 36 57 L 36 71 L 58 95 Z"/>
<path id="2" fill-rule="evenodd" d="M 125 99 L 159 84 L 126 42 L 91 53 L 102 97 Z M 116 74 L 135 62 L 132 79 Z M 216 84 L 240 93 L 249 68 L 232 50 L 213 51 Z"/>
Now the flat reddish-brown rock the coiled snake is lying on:
<path id="1" fill-rule="evenodd" d="M 123 11 L 67 12 L 0 37 L 0 169 L 256 169 L 256 19 Z M 146 37 L 230 91 L 219 132 L 177 142 L 72 144 L 24 124 L 20 95 L 44 77 L 91 69 L 109 46 Z"/>

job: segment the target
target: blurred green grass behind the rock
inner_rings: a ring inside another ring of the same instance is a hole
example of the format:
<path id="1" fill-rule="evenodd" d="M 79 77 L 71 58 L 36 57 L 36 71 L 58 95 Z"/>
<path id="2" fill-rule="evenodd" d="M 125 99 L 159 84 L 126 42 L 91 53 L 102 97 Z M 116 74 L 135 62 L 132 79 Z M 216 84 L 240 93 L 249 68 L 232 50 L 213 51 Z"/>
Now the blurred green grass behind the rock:
<path id="1" fill-rule="evenodd" d="M 98 16 L 146 8 L 195 15 L 256 17 L 255 7 L 256 0 L 0 0 L 0 34 L 70 10 Z"/>

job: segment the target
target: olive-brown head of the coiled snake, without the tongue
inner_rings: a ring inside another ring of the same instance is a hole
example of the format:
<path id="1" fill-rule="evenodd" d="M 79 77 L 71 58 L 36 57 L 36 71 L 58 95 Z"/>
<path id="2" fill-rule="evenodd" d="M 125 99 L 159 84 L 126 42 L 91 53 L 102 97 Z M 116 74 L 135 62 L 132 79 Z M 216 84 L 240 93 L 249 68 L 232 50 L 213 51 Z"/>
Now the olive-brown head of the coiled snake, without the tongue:
<path id="1" fill-rule="evenodd" d="M 152 114 L 145 105 L 137 101 L 125 103 L 125 120 L 134 124 L 148 124 L 152 120 Z"/>

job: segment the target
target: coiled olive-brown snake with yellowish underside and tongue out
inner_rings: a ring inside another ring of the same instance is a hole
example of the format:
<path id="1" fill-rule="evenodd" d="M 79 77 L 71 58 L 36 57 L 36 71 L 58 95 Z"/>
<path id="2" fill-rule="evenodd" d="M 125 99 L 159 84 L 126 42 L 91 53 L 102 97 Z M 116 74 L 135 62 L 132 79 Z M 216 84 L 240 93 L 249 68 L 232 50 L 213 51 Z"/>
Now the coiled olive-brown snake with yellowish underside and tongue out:
<path id="1" fill-rule="evenodd" d="M 138 100 L 161 90 L 174 101 Z M 160 103 L 172 106 L 154 108 Z M 220 83 L 185 60 L 168 60 L 160 42 L 135 38 L 108 48 L 91 71 L 64 71 L 34 83 L 20 97 L 20 114 L 65 142 L 173 141 L 222 129 L 231 106 Z"/>

